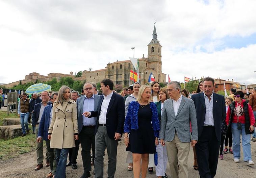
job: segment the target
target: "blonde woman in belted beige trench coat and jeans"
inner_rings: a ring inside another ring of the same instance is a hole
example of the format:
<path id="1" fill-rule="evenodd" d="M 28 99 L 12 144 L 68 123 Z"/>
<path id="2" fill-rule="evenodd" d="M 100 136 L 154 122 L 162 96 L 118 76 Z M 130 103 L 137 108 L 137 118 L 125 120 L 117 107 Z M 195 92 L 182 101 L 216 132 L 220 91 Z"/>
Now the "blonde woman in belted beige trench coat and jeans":
<path id="1" fill-rule="evenodd" d="M 53 104 L 52 120 L 48 130 L 50 147 L 56 150 L 57 169 L 55 178 L 66 178 L 69 148 L 78 140 L 76 102 L 71 99 L 70 88 L 61 86 Z"/>

